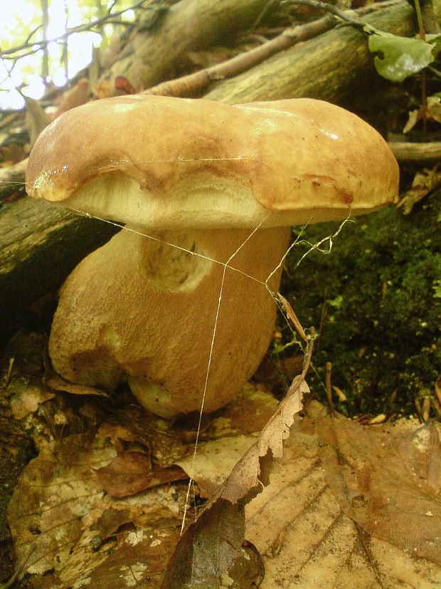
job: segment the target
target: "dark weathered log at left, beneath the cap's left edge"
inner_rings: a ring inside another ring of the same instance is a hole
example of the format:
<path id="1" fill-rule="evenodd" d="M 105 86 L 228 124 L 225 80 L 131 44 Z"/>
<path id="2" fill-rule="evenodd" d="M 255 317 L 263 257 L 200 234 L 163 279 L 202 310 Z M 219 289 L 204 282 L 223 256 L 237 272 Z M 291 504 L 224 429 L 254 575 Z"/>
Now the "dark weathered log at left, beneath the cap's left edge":
<path id="1" fill-rule="evenodd" d="M 33 199 L 11 202 L 0 216 L 0 344 L 37 298 L 56 291 L 116 228 Z"/>

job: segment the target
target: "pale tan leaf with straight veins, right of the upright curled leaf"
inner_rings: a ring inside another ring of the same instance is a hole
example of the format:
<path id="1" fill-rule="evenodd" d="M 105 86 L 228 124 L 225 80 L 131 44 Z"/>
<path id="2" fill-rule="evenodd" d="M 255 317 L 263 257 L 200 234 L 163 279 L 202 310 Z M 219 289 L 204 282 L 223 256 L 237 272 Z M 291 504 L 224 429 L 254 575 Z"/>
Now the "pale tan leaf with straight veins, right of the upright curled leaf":
<path id="1" fill-rule="evenodd" d="M 317 423 L 310 417 L 297 420 L 285 445 L 284 457 L 272 471 L 271 484 L 245 508 L 245 537 L 262 553 L 265 563 L 261 589 L 437 588 L 441 578 L 438 565 L 369 535 L 341 509 L 326 482 L 328 457 L 322 456 L 320 440 L 326 421 L 331 418 L 324 416 L 318 404 L 309 407 Z M 324 422 L 319 424 L 319 419 Z M 395 437 L 398 430 L 389 425 L 378 429 L 351 425 L 356 429 L 356 436 L 351 439 L 361 445 L 362 432 L 371 435 L 370 432 L 391 430 Z M 345 465 L 348 460 L 346 455 Z M 434 475 L 431 476 L 433 479 Z M 438 536 L 440 525 L 438 522 Z M 391 519 L 390 526 L 399 524 Z"/>

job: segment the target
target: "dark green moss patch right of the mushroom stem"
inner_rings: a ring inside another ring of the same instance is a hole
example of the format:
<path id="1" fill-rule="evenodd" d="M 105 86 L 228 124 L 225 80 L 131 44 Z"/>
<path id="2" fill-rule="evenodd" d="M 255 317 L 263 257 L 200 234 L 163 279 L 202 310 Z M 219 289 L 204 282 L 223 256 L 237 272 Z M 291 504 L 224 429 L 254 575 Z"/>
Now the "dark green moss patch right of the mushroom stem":
<path id="1" fill-rule="evenodd" d="M 282 285 L 302 325 L 320 330 L 314 391 L 324 397 L 324 364 L 349 402 L 349 415 L 415 412 L 441 367 L 441 192 L 403 216 L 389 207 L 348 222 L 330 255 L 295 246 Z M 317 242 L 338 224 L 307 228 Z M 320 328 L 321 326 L 321 328 Z M 289 335 L 287 334 L 287 338 Z M 395 402 L 388 403 L 393 392 Z"/>

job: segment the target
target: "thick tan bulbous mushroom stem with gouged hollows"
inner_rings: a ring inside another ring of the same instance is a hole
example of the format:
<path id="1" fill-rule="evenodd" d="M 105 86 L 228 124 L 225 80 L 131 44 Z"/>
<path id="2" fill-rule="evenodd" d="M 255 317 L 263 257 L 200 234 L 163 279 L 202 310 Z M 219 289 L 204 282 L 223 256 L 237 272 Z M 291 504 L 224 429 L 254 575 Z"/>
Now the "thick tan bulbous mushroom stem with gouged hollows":
<path id="1" fill-rule="evenodd" d="M 164 417 L 200 410 L 203 397 L 204 411 L 222 407 L 270 342 L 275 302 L 265 283 L 289 228 L 128 229 L 65 281 L 49 342 L 55 370 L 104 387 L 127 375 L 142 405 Z"/>

